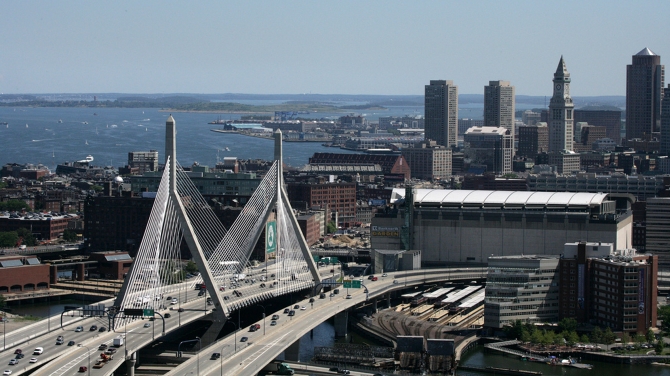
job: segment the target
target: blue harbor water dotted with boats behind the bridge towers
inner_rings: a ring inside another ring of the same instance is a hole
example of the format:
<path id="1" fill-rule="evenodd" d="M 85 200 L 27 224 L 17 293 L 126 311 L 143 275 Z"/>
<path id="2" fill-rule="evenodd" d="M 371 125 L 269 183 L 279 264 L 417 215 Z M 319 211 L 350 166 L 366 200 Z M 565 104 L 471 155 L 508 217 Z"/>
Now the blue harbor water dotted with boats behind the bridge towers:
<path id="1" fill-rule="evenodd" d="M 96 115 L 97 114 L 97 115 Z M 158 109 L 131 108 L 0 108 L 0 165 L 76 161 L 92 155 L 96 166 L 123 166 L 128 152 L 158 150 L 164 158 L 165 120 Z M 273 157 L 272 140 L 212 132 L 207 124 L 217 115 L 174 113 L 177 122 L 177 160 L 214 166 L 217 158 L 265 159 Z M 222 116 L 224 117 L 224 116 Z M 225 115 L 236 119 L 239 115 Z M 62 123 L 59 123 L 62 120 Z M 85 124 L 88 123 L 88 124 Z M 226 151 L 226 148 L 230 151 Z M 284 143 L 284 162 L 300 167 L 315 152 L 347 152 L 320 143 Z"/>

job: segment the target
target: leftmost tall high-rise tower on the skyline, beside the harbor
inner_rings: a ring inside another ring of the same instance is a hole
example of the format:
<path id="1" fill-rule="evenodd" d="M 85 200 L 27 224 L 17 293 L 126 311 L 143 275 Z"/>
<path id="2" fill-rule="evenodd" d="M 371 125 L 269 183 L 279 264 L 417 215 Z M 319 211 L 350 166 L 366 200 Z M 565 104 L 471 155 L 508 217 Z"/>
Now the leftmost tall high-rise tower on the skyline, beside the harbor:
<path id="1" fill-rule="evenodd" d="M 426 85 L 425 134 L 438 145 L 455 147 L 458 137 L 458 86 L 453 81 L 430 80 Z"/>

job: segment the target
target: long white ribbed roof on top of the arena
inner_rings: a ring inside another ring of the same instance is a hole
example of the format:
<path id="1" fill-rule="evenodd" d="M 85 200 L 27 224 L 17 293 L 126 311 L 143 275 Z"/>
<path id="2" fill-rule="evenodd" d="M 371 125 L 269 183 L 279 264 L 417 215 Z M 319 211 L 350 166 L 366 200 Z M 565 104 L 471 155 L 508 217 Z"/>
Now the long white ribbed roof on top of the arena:
<path id="1" fill-rule="evenodd" d="M 391 197 L 391 203 L 405 197 L 405 189 L 394 188 Z M 585 192 L 417 189 L 414 194 L 414 203 L 416 205 L 446 207 L 473 205 L 484 207 L 589 207 L 602 204 L 606 197 L 606 193 Z"/>

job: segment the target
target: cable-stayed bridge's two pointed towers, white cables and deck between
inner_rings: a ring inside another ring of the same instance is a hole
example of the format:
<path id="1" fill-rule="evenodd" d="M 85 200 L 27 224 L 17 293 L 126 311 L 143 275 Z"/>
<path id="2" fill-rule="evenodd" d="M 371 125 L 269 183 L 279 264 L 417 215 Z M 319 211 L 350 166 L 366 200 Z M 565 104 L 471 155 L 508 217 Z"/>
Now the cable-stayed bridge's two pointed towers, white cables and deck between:
<path id="1" fill-rule="evenodd" d="M 165 169 L 137 257 L 115 302 L 118 310 L 164 309 L 164 297 L 177 292 L 183 282 L 182 239 L 200 271 L 190 287 L 204 284 L 216 307 L 217 325 L 211 329 L 214 336 L 231 311 L 311 288 L 314 281 L 320 281 L 282 184 L 281 131 L 275 134 L 272 167 L 227 230 L 178 164 L 175 135 L 175 120 L 170 116 L 166 122 Z M 259 276 L 241 293 L 235 287 L 244 279 L 249 258 L 264 229 L 273 278 Z M 224 299 L 222 290 L 232 290 L 233 294 Z M 115 320 L 116 328 L 133 319 L 120 317 Z"/>

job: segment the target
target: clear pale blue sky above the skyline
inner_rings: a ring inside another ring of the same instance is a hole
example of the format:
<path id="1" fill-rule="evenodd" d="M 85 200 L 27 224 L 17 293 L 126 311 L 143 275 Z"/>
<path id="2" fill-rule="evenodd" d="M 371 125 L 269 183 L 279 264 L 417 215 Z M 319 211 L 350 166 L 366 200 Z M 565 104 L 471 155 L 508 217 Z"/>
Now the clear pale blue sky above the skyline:
<path id="1" fill-rule="evenodd" d="M 0 93 L 625 95 L 670 1 L 0 1 Z M 670 79 L 669 79 L 670 81 Z"/>

